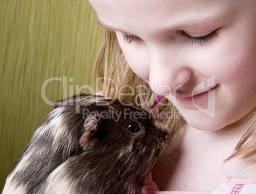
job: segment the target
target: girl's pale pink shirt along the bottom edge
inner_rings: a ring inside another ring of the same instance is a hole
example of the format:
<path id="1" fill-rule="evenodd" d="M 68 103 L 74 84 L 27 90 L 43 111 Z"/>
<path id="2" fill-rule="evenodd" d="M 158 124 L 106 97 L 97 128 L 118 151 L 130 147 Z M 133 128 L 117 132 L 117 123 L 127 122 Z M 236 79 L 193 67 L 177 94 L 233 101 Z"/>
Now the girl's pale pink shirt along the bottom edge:
<path id="1" fill-rule="evenodd" d="M 217 188 L 210 192 L 200 191 L 158 191 L 158 186 L 153 181 L 146 181 L 145 194 L 256 194 L 256 176 L 235 178 L 224 176 Z"/>

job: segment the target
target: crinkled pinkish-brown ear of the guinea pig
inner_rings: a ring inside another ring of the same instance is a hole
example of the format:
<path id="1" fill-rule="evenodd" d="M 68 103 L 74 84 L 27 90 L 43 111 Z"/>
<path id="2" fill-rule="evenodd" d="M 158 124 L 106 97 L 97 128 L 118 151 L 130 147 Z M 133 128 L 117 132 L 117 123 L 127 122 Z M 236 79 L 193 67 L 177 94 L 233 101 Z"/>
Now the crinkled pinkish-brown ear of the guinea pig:
<path id="1" fill-rule="evenodd" d="M 97 139 L 96 135 L 94 135 L 97 131 L 97 125 L 98 117 L 96 115 L 90 115 L 85 119 L 85 132 L 79 140 L 82 148 L 85 148 L 89 144 L 89 142 Z"/>

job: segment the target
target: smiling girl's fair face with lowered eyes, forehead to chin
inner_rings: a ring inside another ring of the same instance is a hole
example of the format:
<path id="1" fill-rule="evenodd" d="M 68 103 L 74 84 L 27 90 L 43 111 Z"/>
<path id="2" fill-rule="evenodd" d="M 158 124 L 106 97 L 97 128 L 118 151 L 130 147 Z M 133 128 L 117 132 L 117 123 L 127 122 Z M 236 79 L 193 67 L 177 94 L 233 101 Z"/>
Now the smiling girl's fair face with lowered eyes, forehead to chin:
<path id="1" fill-rule="evenodd" d="M 218 130 L 255 107 L 255 0 L 90 0 L 129 66 L 192 127 Z"/>

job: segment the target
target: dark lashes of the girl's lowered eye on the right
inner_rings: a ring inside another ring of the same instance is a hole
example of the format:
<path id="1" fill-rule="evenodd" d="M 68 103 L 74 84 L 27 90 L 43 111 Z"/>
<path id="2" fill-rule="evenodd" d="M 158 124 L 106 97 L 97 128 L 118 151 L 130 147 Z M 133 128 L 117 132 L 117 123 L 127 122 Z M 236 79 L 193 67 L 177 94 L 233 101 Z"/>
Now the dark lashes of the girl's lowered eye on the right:
<path id="1" fill-rule="evenodd" d="M 183 32 L 186 39 L 191 43 L 191 45 L 203 45 L 205 43 L 208 43 L 209 41 L 214 41 L 216 38 L 218 38 L 218 33 L 217 31 L 213 31 L 210 34 L 206 34 L 205 36 L 199 36 L 199 37 L 194 37 L 194 36 L 189 36 L 185 32 Z"/>

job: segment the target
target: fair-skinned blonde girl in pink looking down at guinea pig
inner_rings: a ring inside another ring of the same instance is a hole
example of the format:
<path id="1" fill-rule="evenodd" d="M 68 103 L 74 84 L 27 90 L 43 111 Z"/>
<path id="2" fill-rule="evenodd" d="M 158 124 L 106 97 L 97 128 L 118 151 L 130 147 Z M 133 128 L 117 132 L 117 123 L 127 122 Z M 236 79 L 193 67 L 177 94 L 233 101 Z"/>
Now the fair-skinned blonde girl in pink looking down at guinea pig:
<path id="1" fill-rule="evenodd" d="M 89 1 L 103 95 L 151 107 L 178 142 L 143 193 L 256 193 L 256 1 Z"/>

